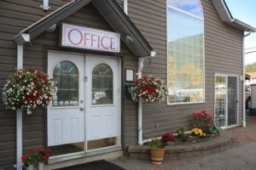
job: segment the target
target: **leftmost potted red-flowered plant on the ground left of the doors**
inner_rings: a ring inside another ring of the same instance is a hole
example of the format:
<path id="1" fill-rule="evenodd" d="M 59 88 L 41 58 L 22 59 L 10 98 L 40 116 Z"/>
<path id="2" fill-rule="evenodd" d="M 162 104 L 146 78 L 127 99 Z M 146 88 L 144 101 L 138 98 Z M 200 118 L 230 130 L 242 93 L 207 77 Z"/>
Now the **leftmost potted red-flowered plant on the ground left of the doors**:
<path id="1" fill-rule="evenodd" d="M 21 156 L 21 160 L 26 166 L 26 170 L 34 170 L 36 163 L 38 162 L 38 153 L 34 150 L 28 150 L 26 154 Z"/>

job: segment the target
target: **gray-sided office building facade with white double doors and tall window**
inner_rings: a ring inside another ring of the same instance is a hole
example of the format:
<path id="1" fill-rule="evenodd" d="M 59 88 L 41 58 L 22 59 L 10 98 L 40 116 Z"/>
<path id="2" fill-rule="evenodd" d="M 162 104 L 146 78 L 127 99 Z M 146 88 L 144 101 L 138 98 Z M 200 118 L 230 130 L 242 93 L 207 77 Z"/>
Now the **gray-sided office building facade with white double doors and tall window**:
<path id="1" fill-rule="evenodd" d="M 147 140 L 189 129 L 195 111 L 211 111 L 218 127 L 245 124 L 242 44 L 255 29 L 232 18 L 223 0 L 129 0 L 128 16 L 121 0 L 42 4 L 0 2 L 0 86 L 18 55 L 58 87 L 47 108 L 22 115 L 22 127 L 1 99 L 0 168 L 19 167 L 20 149 L 50 147 L 53 167 L 122 153 L 138 131 Z M 168 86 L 166 102 L 143 104 L 143 128 L 128 92 L 140 68 Z"/>

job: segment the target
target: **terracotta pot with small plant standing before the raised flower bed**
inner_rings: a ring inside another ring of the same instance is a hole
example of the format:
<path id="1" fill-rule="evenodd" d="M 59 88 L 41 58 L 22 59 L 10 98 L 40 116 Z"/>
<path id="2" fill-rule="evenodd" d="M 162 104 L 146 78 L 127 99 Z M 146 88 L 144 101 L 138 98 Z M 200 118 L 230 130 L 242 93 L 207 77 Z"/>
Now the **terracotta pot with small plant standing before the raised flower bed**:
<path id="1" fill-rule="evenodd" d="M 155 165 L 160 165 L 164 160 L 166 145 L 160 139 L 152 139 L 150 142 L 151 161 Z"/>

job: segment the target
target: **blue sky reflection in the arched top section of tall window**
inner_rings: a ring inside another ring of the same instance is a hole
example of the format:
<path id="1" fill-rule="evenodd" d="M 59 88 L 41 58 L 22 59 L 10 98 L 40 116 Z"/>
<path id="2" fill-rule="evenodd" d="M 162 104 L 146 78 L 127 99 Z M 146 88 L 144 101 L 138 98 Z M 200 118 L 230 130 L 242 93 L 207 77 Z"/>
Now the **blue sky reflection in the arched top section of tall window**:
<path id="1" fill-rule="evenodd" d="M 202 11 L 199 0 L 167 0 L 167 4 L 183 11 L 202 17 Z"/>

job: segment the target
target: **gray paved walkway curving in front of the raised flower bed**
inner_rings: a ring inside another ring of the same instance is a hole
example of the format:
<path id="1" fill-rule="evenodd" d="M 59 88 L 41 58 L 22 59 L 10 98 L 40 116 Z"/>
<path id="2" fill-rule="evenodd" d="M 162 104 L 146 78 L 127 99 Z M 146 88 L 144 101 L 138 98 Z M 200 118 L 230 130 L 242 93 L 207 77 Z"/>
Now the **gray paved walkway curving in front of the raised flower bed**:
<path id="1" fill-rule="evenodd" d="M 256 170 L 256 122 L 248 117 L 246 128 L 236 127 L 228 131 L 234 139 L 230 150 L 212 156 L 165 160 L 160 166 L 154 166 L 149 160 L 125 157 L 112 162 L 126 170 Z"/>

